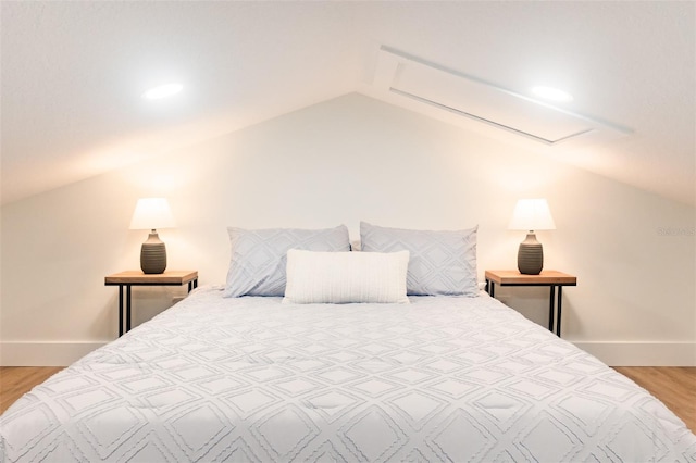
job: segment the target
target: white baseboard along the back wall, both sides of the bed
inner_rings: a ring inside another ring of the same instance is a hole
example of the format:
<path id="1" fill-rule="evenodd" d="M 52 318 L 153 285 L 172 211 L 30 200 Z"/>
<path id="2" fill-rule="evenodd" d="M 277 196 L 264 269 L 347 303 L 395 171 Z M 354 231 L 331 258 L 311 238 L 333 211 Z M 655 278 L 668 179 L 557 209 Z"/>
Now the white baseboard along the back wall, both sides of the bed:
<path id="1" fill-rule="evenodd" d="M 0 342 L 0 365 L 66 366 L 105 343 Z M 696 342 L 573 343 L 610 366 L 696 366 Z"/>

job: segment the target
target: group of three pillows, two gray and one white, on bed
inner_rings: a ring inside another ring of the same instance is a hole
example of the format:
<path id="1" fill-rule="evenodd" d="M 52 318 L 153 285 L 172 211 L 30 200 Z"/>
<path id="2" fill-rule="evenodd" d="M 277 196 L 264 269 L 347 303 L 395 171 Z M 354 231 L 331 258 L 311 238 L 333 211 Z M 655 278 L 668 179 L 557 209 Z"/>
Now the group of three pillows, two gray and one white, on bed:
<path id="1" fill-rule="evenodd" d="M 229 227 L 232 256 L 223 296 L 283 296 L 284 303 L 475 297 L 476 230 L 412 230 L 361 222 L 363 252 L 349 252 L 345 225 L 315 230 Z"/>

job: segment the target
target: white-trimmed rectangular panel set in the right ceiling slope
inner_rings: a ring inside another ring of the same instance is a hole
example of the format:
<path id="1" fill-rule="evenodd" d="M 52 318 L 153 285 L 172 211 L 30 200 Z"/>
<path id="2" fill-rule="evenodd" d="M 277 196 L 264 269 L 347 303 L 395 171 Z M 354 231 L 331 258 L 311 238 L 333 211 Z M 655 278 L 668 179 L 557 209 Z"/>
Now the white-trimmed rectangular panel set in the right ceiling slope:
<path id="1" fill-rule="evenodd" d="M 536 87 L 534 98 L 515 93 L 481 77 L 382 46 L 373 86 L 389 99 L 417 110 L 456 115 L 458 123 L 480 123 L 548 147 L 597 142 L 626 136 L 630 129 L 561 109 L 572 101 L 558 88 Z M 542 102 L 552 99 L 551 102 Z M 476 124 L 471 124 L 476 127 Z"/>

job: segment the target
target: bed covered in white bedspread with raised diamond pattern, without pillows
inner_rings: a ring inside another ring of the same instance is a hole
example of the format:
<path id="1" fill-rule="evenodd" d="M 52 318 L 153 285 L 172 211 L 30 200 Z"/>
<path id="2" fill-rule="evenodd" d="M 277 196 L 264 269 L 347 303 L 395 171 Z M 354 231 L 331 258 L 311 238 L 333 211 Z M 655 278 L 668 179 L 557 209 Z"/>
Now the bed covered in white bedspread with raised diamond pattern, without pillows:
<path id="1" fill-rule="evenodd" d="M 7 462 L 696 461 L 660 401 L 495 299 L 199 288 L 0 417 Z"/>

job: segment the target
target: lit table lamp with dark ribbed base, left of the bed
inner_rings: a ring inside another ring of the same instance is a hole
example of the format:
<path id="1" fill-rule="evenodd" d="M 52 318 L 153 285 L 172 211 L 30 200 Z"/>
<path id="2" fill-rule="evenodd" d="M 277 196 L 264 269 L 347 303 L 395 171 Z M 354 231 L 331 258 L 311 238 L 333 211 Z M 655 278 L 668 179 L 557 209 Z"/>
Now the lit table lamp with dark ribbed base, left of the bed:
<path id="1" fill-rule="evenodd" d="M 157 234 L 157 228 L 173 228 L 174 217 L 164 198 L 142 198 L 138 200 L 130 220 L 130 229 L 149 229 L 150 235 L 140 248 L 140 268 L 146 274 L 164 273 L 166 248 Z"/>

